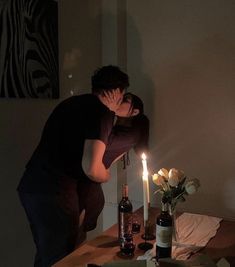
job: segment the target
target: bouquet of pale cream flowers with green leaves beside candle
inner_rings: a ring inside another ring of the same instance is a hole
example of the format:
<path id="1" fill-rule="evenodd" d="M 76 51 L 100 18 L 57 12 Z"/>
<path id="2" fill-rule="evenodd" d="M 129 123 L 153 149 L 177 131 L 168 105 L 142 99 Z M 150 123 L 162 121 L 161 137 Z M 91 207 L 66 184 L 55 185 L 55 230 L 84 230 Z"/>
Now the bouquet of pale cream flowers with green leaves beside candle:
<path id="1" fill-rule="evenodd" d="M 197 192 L 200 186 L 198 179 L 189 179 L 183 171 L 175 168 L 169 171 L 162 168 L 152 176 L 152 179 L 158 186 L 155 193 L 162 194 L 162 202 L 169 204 L 171 214 L 173 214 L 178 202 L 185 201 L 185 197 Z"/>

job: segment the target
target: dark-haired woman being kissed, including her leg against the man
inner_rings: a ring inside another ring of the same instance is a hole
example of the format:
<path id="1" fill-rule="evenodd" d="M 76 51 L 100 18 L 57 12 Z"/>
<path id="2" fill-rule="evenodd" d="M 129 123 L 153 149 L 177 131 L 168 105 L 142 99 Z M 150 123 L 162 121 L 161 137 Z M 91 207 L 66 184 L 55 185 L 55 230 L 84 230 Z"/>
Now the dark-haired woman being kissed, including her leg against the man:
<path id="1" fill-rule="evenodd" d="M 132 148 L 138 155 L 148 150 L 149 120 L 144 115 L 142 100 L 132 93 L 126 93 L 116 115 L 116 123 L 109 136 L 103 157 L 103 163 L 107 169 L 112 163 L 127 155 L 123 159 L 125 167 L 128 152 Z M 80 212 L 85 211 L 82 226 L 84 234 L 95 229 L 105 202 L 101 184 L 89 181 L 88 186 L 87 183 L 88 181 L 84 181 L 78 187 L 79 202 L 83 203 L 83 206 L 80 206 Z"/>

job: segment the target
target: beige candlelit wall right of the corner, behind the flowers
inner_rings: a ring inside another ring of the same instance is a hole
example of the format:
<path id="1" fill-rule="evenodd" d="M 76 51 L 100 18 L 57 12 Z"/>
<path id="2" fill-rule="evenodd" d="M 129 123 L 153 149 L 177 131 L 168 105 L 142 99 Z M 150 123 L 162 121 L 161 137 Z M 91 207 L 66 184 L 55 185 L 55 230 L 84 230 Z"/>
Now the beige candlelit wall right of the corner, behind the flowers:
<path id="1" fill-rule="evenodd" d="M 151 121 L 150 171 L 176 167 L 199 178 L 200 191 L 179 209 L 231 219 L 234 14 L 229 0 L 127 1 L 127 70 Z M 140 168 L 133 162 L 129 169 L 137 201 Z M 153 196 L 152 203 L 159 206 Z"/>

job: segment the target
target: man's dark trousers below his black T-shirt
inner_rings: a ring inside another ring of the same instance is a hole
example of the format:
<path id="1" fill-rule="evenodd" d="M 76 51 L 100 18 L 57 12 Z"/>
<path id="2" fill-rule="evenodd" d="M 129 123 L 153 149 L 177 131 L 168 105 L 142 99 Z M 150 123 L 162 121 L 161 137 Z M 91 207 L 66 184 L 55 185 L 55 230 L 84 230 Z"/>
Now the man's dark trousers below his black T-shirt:
<path id="1" fill-rule="evenodd" d="M 77 182 L 60 179 L 57 193 L 19 192 L 36 245 L 35 267 L 50 267 L 72 252 L 79 227 Z"/>

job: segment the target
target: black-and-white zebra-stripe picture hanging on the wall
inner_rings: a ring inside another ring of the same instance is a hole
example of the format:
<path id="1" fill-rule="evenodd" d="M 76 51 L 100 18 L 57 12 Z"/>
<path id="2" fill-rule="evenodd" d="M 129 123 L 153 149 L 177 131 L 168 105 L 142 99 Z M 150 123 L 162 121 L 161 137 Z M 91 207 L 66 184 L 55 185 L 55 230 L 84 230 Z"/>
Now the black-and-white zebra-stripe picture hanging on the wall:
<path id="1" fill-rule="evenodd" d="M 0 0 L 0 98 L 58 98 L 58 3 Z"/>

